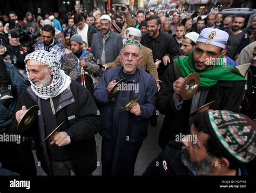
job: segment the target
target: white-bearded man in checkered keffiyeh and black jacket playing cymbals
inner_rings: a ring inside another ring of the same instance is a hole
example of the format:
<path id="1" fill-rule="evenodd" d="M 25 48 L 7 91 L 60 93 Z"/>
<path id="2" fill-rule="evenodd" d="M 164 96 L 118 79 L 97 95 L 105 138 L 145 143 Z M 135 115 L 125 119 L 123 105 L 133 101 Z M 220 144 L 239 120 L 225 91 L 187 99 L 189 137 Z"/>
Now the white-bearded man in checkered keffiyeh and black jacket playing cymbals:
<path id="1" fill-rule="evenodd" d="M 96 144 L 100 116 L 89 91 L 60 70 L 55 55 L 39 50 L 25 58 L 31 86 L 17 101 L 16 128 L 30 107 L 39 107 L 29 133 L 36 143 L 38 160 L 48 175 L 90 175 L 96 169 Z M 42 143 L 61 123 L 59 132 Z M 39 144 L 42 143 L 42 146 Z"/>

